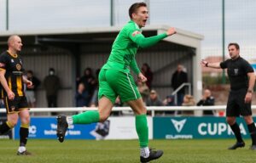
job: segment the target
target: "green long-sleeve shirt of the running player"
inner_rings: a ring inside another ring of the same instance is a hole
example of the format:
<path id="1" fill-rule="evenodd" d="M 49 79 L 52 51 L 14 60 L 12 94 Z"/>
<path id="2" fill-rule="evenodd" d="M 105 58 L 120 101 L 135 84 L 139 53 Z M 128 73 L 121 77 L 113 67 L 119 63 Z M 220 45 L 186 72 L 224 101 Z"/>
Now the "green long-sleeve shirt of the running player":
<path id="1" fill-rule="evenodd" d="M 166 37 L 166 33 L 154 37 L 144 37 L 142 30 L 131 20 L 119 31 L 119 35 L 113 42 L 108 62 L 103 65 L 102 69 L 113 69 L 127 73 L 130 72 L 129 67 L 131 67 L 131 70 L 139 74 L 140 70 L 135 59 L 137 49 L 150 47 Z"/>

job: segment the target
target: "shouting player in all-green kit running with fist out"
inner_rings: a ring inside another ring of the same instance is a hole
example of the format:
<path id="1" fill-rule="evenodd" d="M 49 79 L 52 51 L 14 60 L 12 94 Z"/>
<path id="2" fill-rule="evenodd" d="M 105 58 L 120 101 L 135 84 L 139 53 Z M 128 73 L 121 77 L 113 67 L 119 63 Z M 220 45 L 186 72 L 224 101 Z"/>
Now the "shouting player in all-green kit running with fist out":
<path id="1" fill-rule="evenodd" d="M 102 66 L 99 74 L 98 111 L 86 111 L 70 117 L 59 115 L 57 117 L 57 137 L 60 142 L 64 141 L 68 125 L 106 121 L 115 99 L 119 96 L 123 102 L 129 104 L 136 115 L 135 124 L 140 143 L 140 160 L 148 162 L 160 158 L 163 151 L 148 148 L 147 110 L 131 76 L 130 69 L 137 74 L 138 80 L 146 82 L 147 78 L 139 70 L 135 59 L 137 49 L 153 46 L 160 40 L 175 34 L 176 30 L 172 27 L 160 35 L 144 37 L 142 27 L 148 20 L 146 3 L 132 4 L 129 8 L 129 16 L 131 20 L 119 31 L 119 35 L 113 42 L 108 62 Z"/>

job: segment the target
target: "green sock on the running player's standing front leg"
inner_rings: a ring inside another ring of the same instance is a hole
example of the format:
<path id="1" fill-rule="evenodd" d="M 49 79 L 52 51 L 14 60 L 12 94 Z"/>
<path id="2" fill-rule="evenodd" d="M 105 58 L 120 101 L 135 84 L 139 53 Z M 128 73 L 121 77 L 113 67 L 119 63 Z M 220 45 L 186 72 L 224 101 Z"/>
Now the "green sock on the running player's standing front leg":
<path id="1" fill-rule="evenodd" d="M 148 122 L 147 115 L 136 115 L 136 131 L 140 142 L 140 147 L 148 147 Z"/>

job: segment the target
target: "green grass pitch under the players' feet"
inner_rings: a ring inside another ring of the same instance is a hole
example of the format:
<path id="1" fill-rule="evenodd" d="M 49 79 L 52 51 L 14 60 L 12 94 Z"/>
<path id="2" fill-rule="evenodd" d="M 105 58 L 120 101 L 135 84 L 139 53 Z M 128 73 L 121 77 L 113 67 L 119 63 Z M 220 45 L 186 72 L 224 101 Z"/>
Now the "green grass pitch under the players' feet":
<path id="1" fill-rule="evenodd" d="M 151 140 L 149 145 L 163 149 L 160 160 L 166 163 L 249 163 L 256 161 L 250 140 L 243 149 L 228 150 L 235 139 Z M 16 155 L 19 141 L 0 139 L 2 163 L 133 163 L 139 162 L 137 140 L 57 140 L 30 139 L 31 156 Z"/>

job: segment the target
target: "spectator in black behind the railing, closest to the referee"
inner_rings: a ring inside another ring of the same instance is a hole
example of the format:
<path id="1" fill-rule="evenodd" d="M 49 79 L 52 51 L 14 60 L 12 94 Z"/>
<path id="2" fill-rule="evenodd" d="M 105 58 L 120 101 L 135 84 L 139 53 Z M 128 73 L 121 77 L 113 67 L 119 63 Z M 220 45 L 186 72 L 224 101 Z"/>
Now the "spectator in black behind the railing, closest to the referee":
<path id="1" fill-rule="evenodd" d="M 212 97 L 212 93 L 209 89 L 204 91 L 201 100 L 196 104 L 197 106 L 212 106 L 215 99 Z M 203 115 L 214 115 L 213 110 L 204 110 Z"/>

